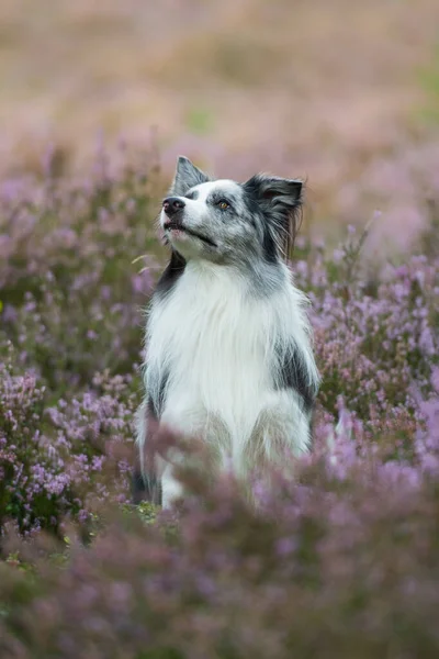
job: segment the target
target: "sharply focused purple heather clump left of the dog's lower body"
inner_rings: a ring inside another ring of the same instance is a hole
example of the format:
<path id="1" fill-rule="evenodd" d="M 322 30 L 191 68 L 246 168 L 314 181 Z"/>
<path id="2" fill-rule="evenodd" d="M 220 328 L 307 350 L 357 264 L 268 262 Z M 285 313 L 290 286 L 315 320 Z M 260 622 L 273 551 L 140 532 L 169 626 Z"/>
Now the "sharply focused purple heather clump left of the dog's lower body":
<path id="1" fill-rule="evenodd" d="M 24 534 L 59 532 L 67 517 L 86 522 L 110 496 L 125 501 L 130 462 L 116 446 L 133 436 L 131 378 L 97 375 L 94 392 L 49 404 L 44 384 L 16 369 L 7 349 L 0 364 L 0 527 L 13 520 Z M 106 465 L 115 470 L 110 489 Z"/>

